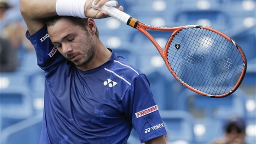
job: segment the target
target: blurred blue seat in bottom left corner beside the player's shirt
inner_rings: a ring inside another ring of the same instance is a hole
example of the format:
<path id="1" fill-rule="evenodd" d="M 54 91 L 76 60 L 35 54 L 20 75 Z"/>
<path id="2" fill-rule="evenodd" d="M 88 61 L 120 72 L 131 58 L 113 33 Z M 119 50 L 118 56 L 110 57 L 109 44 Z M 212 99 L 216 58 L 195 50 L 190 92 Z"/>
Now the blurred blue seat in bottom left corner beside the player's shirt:
<path id="1" fill-rule="evenodd" d="M 27 118 L 1 131 L 1 144 L 39 144 L 42 114 Z"/>

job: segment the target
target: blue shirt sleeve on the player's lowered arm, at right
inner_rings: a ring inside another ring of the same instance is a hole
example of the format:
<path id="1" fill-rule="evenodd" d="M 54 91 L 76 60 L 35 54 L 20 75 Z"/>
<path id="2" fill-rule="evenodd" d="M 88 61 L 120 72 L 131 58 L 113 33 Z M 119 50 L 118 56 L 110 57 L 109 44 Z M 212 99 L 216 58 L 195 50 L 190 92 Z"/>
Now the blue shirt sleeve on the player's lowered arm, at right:
<path id="1" fill-rule="evenodd" d="M 166 135 L 145 74 L 140 74 L 134 79 L 122 102 L 141 143 Z"/>

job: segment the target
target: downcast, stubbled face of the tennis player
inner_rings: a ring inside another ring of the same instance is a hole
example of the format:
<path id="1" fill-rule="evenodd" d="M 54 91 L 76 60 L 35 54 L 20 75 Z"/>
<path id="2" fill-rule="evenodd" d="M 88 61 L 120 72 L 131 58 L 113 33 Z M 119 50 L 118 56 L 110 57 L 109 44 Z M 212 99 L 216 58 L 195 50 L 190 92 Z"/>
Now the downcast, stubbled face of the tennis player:
<path id="1" fill-rule="evenodd" d="M 64 18 L 49 26 L 48 33 L 58 51 L 77 67 L 85 66 L 93 58 L 95 47 L 92 35 L 85 28 Z"/>

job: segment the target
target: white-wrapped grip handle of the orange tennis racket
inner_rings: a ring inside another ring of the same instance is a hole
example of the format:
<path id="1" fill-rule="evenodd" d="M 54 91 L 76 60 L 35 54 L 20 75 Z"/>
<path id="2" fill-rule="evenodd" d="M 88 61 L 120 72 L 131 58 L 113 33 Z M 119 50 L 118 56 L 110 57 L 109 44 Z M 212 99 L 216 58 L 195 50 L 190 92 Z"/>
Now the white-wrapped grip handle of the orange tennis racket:
<path id="1" fill-rule="evenodd" d="M 92 2 L 92 8 L 99 9 L 100 11 L 105 10 L 108 12 L 109 16 L 125 24 L 127 24 L 128 20 L 131 17 L 129 14 L 126 14 L 125 12 L 122 12 L 119 9 L 116 9 L 115 7 L 107 7 L 106 5 L 103 5 L 102 7 L 96 8 L 94 1 Z"/>

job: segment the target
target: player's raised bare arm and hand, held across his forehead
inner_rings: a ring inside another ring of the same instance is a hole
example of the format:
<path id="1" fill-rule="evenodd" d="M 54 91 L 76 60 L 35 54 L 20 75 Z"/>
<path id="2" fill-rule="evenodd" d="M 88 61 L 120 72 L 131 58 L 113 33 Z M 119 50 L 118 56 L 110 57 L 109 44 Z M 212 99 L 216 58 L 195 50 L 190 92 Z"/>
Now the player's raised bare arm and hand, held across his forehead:
<path id="1" fill-rule="evenodd" d="M 62 0 L 62 4 L 68 4 L 69 2 L 82 2 L 83 0 Z M 109 0 L 97 0 L 96 5 L 102 6 Z M 87 17 L 91 17 L 94 19 L 102 19 L 107 16 L 106 11 L 99 11 L 97 9 L 94 9 L 91 7 L 91 4 L 93 0 L 84 0 L 85 5 L 82 5 L 81 7 L 78 7 L 79 9 L 84 10 L 84 15 Z M 33 35 L 33 33 L 36 33 L 40 28 L 44 26 L 44 19 L 50 16 L 56 16 L 56 3 L 57 0 L 20 0 L 20 11 L 24 18 L 24 21 L 26 22 L 26 25 L 28 27 L 28 32 L 30 35 Z M 79 5 L 78 5 L 79 6 Z M 74 7 L 70 8 L 64 8 L 60 6 L 60 8 L 64 12 L 64 15 L 66 16 L 74 16 L 76 15 L 76 11 L 78 12 L 78 9 L 75 9 Z M 123 10 L 123 7 L 119 7 L 120 10 Z M 73 14 L 69 14 L 72 13 Z M 63 13 L 62 13 L 63 14 Z"/>

